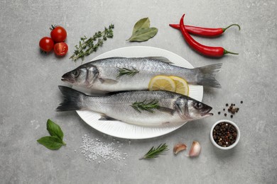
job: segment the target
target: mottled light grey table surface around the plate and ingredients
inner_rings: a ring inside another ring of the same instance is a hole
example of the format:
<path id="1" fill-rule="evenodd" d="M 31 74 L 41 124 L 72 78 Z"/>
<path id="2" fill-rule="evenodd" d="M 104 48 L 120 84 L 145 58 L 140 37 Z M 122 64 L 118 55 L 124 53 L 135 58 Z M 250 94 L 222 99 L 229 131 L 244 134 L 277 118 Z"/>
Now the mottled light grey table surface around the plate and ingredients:
<path id="1" fill-rule="evenodd" d="M 0 2 L 0 183 L 276 183 L 276 13 L 275 0 L 266 1 L 6 1 Z M 239 55 L 210 59 L 194 52 L 178 30 L 168 23 L 224 27 L 239 23 L 219 38 L 195 37 L 212 46 L 223 46 Z M 126 42 L 134 23 L 148 17 L 158 34 L 147 42 Z M 222 63 L 217 79 L 221 89 L 205 88 L 203 102 L 213 107 L 214 116 L 188 122 L 170 134 L 153 139 L 117 139 L 89 127 L 77 113 L 57 113 L 60 77 L 81 64 L 69 57 L 82 35 L 93 35 L 114 23 L 114 38 L 85 58 L 120 47 L 151 46 L 169 50 L 194 67 Z M 66 28 L 69 52 L 65 57 L 41 54 L 40 38 L 49 36 L 49 26 Z M 243 100 L 244 103 L 239 102 Z M 214 122 L 229 117 L 218 115 L 225 103 L 240 110 L 232 120 L 241 139 L 230 151 L 214 147 L 208 137 Z M 65 133 L 67 143 L 51 151 L 36 142 L 48 134 L 50 118 Z M 81 153 L 82 137 L 114 142 L 115 149 L 128 154 L 125 160 L 86 161 Z M 199 157 L 188 151 L 173 154 L 173 145 L 193 140 L 202 145 Z M 119 142 L 120 148 L 116 145 Z M 170 149 L 153 160 L 139 158 L 166 142 Z M 99 163 L 100 162 L 100 163 Z"/>

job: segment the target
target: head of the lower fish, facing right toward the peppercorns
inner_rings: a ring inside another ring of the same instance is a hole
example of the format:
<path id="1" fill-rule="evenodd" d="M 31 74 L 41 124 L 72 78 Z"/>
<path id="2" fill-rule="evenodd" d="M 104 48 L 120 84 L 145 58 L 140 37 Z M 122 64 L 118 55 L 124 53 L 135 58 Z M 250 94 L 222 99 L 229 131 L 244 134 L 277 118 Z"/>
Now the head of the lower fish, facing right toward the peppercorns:
<path id="1" fill-rule="evenodd" d="M 189 97 L 178 98 L 174 106 L 183 120 L 197 120 L 213 115 L 210 113 L 212 107 Z"/>

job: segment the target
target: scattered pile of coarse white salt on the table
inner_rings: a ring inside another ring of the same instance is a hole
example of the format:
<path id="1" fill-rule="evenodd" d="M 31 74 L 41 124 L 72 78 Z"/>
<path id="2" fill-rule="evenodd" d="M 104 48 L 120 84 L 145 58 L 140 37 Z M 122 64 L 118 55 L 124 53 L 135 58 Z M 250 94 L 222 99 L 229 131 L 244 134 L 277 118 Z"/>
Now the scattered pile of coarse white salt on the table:
<path id="1" fill-rule="evenodd" d="M 125 160 L 128 156 L 126 153 L 121 154 L 119 151 L 118 148 L 122 145 L 123 144 L 120 144 L 119 141 L 117 141 L 116 144 L 114 142 L 104 143 L 97 138 L 91 139 L 85 134 L 82 137 L 82 145 L 80 146 L 80 149 L 87 161 L 95 161 L 99 159 L 102 159 L 104 162 L 113 159 L 121 161 Z M 98 163 L 101 163 L 101 161 L 98 161 Z"/>

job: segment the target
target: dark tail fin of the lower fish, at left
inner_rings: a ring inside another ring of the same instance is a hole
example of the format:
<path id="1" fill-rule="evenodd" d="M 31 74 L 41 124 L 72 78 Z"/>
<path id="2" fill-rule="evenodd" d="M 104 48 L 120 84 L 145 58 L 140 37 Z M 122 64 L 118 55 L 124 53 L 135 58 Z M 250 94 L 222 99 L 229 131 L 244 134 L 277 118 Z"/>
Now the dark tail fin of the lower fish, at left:
<path id="1" fill-rule="evenodd" d="M 56 111 L 81 110 L 84 108 L 82 101 L 86 96 L 85 93 L 81 93 L 66 86 L 58 87 L 60 88 L 60 92 L 63 93 L 64 100 L 63 103 L 60 103 L 60 106 L 56 108 Z"/>

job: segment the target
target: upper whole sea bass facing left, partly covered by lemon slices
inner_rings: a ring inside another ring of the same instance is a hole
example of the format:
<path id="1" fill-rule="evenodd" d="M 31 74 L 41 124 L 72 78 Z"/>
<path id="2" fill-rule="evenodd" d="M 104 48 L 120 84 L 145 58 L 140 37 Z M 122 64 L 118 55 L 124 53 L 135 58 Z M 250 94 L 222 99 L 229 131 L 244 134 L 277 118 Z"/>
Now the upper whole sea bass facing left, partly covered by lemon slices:
<path id="1" fill-rule="evenodd" d="M 98 91 L 148 90 L 157 75 L 179 76 L 188 84 L 220 88 L 214 73 L 222 64 L 187 69 L 170 64 L 164 57 L 110 57 L 82 64 L 62 76 L 62 81 Z"/>

